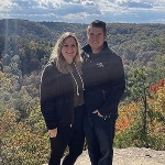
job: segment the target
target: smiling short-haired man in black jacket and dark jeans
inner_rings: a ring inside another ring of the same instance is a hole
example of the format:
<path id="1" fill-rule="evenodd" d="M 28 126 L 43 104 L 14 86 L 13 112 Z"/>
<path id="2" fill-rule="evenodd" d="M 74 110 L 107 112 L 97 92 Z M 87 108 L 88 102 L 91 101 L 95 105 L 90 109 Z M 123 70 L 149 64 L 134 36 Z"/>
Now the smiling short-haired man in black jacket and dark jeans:
<path id="1" fill-rule="evenodd" d="M 108 47 L 106 23 L 92 21 L 82 47 L 85 133 L 91 165 L 112 165 L 118 105 L 125 89 L 121 57 Z"/>

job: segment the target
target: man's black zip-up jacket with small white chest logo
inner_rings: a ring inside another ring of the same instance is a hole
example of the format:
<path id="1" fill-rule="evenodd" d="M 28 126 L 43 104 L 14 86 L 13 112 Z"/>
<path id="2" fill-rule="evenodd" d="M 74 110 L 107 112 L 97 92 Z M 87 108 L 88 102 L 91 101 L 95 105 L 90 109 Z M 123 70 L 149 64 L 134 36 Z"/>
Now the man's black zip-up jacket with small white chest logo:
<path id="1" fill-rule="evenodd" d="M 107 42 L 99 54 L 91 47 L 82 47 L 85 105 L 89 114 L 95 110 L 108 117 L 118 113 L 118 106 L 125 89 L 122 59 L 108 47 Z"/>

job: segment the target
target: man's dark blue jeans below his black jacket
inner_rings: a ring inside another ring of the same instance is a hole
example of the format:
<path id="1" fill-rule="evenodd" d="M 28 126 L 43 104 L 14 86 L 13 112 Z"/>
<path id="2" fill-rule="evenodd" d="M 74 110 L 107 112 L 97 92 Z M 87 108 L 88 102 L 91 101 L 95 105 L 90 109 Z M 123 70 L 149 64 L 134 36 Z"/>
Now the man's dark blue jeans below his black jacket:
<path id="1" fill-rule="evenodd" d="M 112 165 L 114 125 L 118 114 L 106 120 L 98 114 L 85 116 L 85 135 L 91 165 Z"/>

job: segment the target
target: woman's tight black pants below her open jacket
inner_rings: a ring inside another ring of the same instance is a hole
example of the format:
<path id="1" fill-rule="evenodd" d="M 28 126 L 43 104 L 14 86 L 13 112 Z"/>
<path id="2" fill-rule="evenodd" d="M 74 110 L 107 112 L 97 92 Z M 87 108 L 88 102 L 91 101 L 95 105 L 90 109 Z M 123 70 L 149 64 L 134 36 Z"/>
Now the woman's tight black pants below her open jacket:
<path id="1" fill-rule="evenodd" d="M 84 133 L 84 108 L 75 109 L 75 122 L 70 125 L 59 125 L 57 136 L 51 138 L 51 158 L 48 165 L 61 165 L 65 148 L 68 146 L 68 154 L 64 157 L 62 165 L 74 165 L 77 157 L 82 153 Z"/>

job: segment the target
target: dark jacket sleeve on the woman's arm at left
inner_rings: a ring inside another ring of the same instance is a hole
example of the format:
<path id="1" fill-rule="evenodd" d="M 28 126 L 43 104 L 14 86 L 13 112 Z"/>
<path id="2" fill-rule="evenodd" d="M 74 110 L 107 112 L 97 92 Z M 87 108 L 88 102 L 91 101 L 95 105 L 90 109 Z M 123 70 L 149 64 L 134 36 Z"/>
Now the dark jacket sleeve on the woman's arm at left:
<path id="1" fill-rule="evenodd" d="M 46 66 L 41 76 L 41 111 L 48 130 L 57 127 L 55 66 Z"/>

